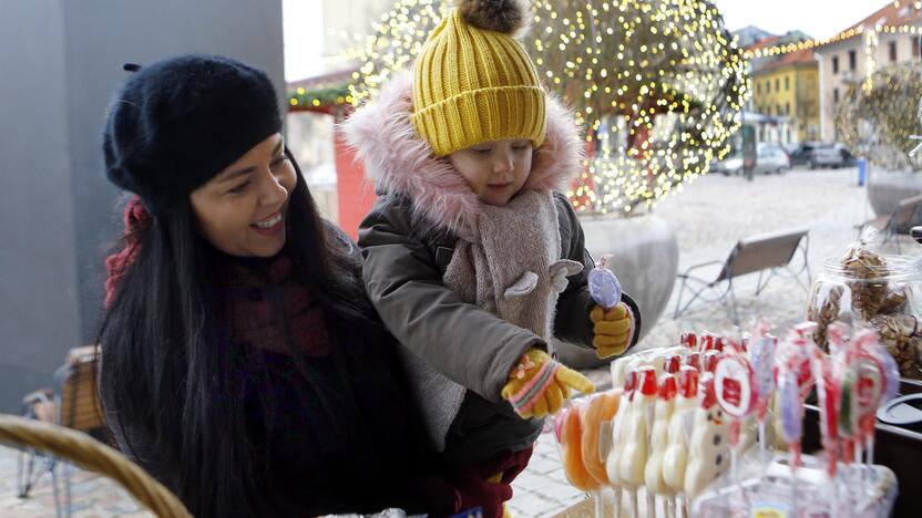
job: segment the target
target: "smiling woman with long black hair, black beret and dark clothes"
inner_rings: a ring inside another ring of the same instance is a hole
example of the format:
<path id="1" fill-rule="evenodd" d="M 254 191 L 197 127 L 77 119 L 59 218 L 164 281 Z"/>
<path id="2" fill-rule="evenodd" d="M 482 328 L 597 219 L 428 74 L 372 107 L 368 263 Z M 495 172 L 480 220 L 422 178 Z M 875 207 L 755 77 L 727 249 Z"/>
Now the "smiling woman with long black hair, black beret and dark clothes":
<path id="1" fill-rule="evenodd" d="M 225 58 L 144 66 L 116 95 L 106 174 L 137 197 L 106 261 L 109 424 L 196 516 L 450 514 L 356 248 L 280 130 L 266 75 Z"/>

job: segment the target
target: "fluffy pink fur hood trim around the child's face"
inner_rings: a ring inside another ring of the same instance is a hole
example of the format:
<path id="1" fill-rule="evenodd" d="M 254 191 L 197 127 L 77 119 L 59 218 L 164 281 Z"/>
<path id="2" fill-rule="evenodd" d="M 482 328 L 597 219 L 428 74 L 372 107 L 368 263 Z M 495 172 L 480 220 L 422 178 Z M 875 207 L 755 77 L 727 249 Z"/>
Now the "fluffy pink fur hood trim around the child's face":
<path id="1" fill-rule="evenodd" d="M 458 236 L 475 232 L 478 199 L 464 178 L 432 155 L 410 121 L 412 77 L 395 76 L 377 100 L 356 111 L 341 126 L 346 142 L 365 165 L 378 191 L 402 195 L 413 215 Z M 572 114 L 547 95 L 544 143 L 535 151 L 523 189 L 565 191 L 582 168 L 585 143 Z"/>

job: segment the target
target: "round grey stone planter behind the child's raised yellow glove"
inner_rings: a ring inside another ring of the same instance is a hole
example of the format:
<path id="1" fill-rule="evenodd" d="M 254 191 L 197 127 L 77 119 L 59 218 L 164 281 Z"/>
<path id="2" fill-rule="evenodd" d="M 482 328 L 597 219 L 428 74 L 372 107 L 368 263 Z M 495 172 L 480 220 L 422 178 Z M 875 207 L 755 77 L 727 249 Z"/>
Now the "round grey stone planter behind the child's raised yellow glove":
<path id="1" fill-rule="evenodd" d="M 590 216 L 582 218 L 586 249 L 598 259 L 613 253 L 612 271 L 641 307 L 643 339 L 663 314 L 678 270 L 678 242 L 675 232 L 663 218 L 645 215 L 635 218 Z M 606 361 L 595 352 L 560 344 L 561 359 L 571 366 L 588 369 Z"/>

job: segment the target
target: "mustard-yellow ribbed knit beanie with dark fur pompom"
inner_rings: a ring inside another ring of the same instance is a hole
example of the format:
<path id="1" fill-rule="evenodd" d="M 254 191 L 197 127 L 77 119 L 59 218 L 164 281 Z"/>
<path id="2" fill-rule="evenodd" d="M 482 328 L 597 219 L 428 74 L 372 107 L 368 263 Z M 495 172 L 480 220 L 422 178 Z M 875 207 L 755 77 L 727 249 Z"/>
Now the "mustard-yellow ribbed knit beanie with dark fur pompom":
<path id="1" fill-rule="evenodd" d="M 413 126 L 445 156 L 481 142 L 544 142 L 544 90 L 514 32 L 520 0 L 462 0 L 442 20 L 413 68 Z"/>

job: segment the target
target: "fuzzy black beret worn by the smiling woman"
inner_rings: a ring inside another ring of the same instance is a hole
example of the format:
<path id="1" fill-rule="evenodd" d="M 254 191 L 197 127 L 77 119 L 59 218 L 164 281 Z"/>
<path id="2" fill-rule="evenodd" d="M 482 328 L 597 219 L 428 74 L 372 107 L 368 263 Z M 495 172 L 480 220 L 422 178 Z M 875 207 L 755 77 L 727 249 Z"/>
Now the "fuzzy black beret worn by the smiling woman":
<path id="1" fill-rule="evenodd" d="M 239 61 L 189 54 L 135 72 L 110 104 L 105 172 L 156 214 L 281 131 L 275 87 Z"/>

